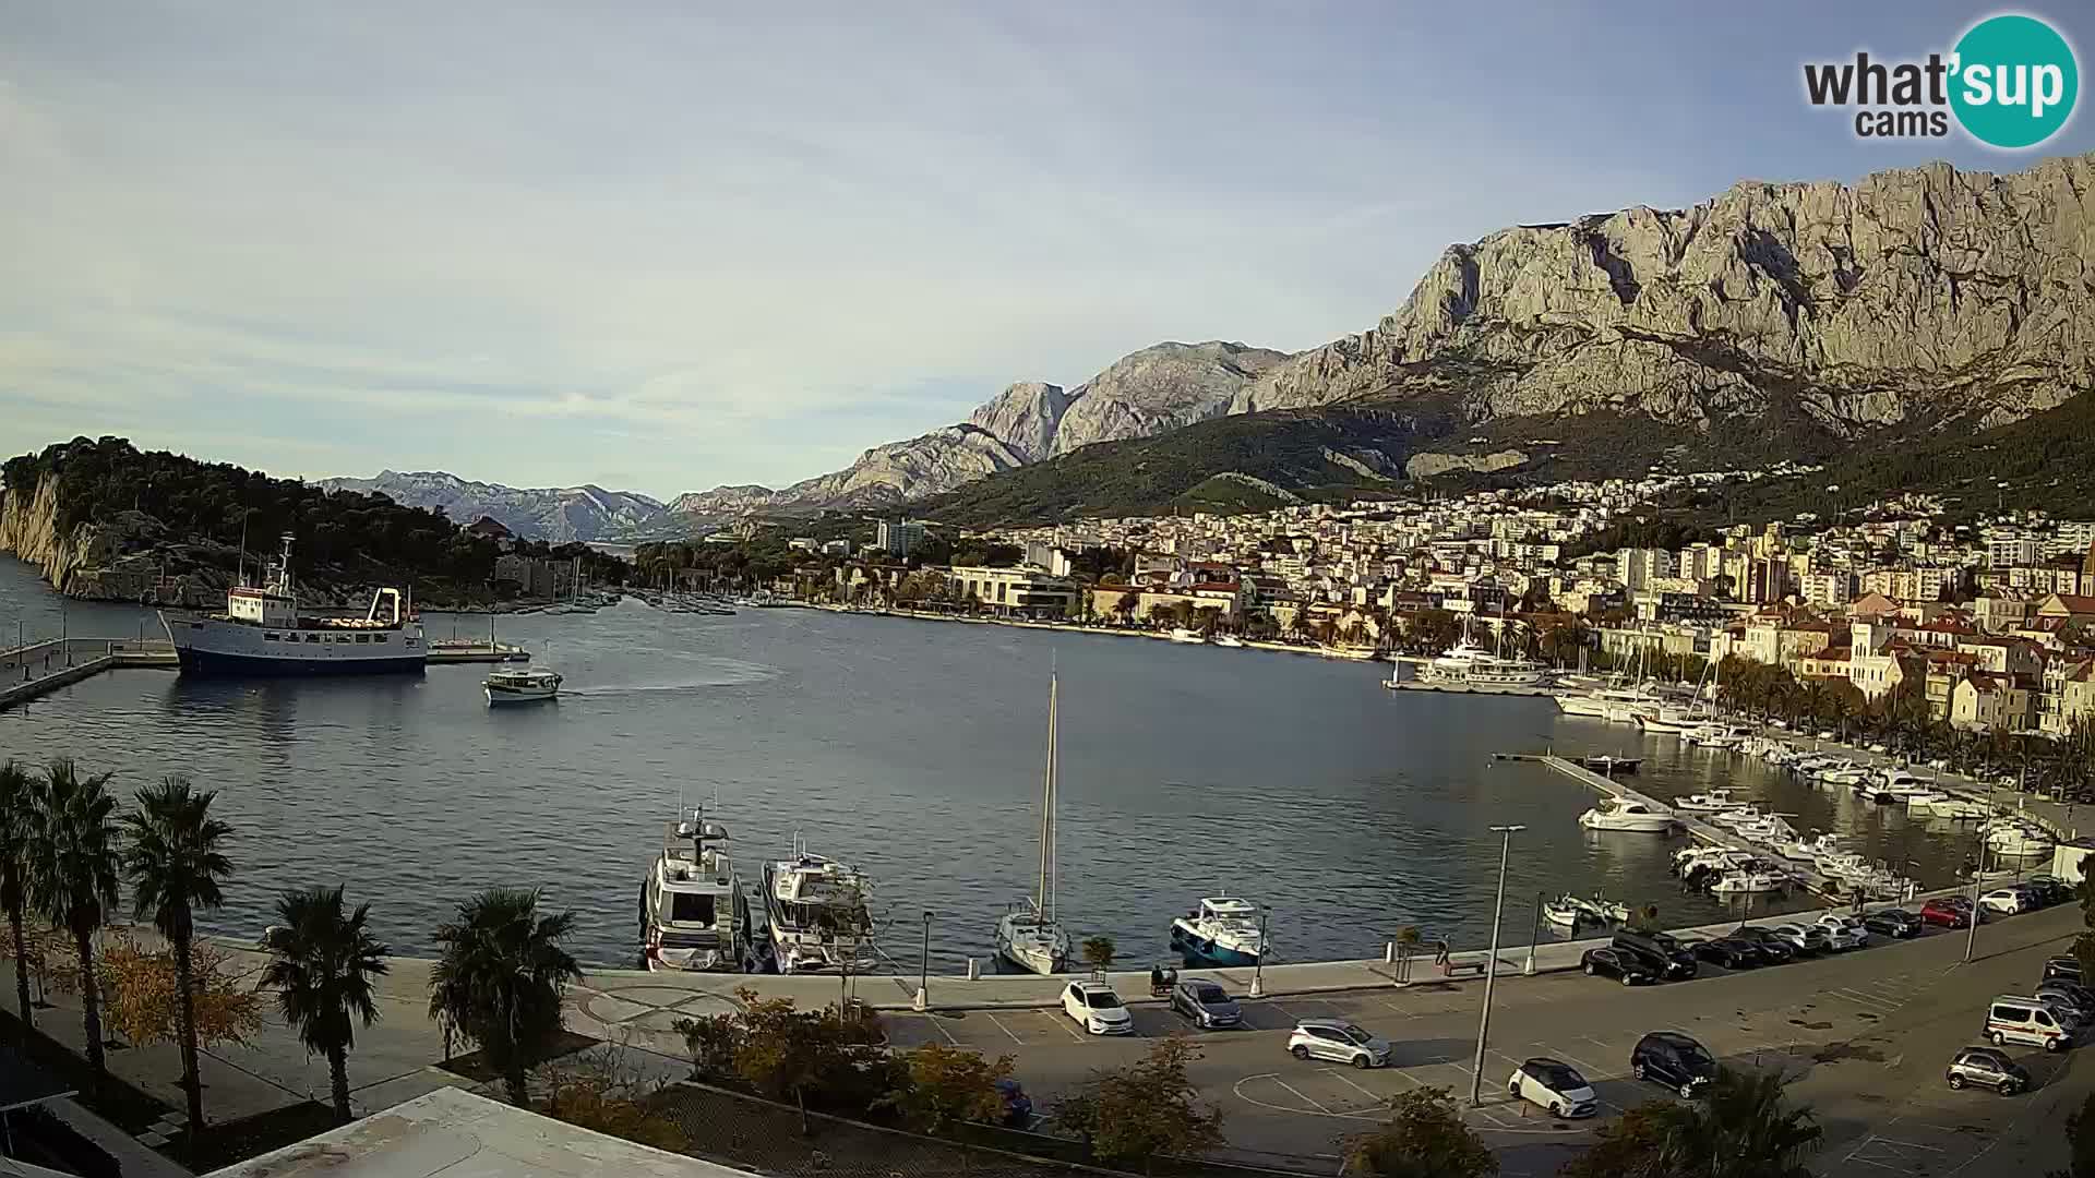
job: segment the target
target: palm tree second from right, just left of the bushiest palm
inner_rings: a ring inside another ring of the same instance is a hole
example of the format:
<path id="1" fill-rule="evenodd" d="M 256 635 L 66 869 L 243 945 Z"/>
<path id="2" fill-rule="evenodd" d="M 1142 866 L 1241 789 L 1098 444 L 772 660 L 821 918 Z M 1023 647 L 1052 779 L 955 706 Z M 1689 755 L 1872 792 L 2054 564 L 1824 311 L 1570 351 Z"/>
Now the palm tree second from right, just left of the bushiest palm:
<path id="1" fill-rule="evenodd" d="M 339 887 L 287 891 L 264 947 L 262 989 L 277 991 L 283 1021 L 297 1027 L 306 1050 L 327 1056 L 335 1117 L 350 1119 L 350 1048 L 356 1021 L 379 1019 L 373 983 L 385 973 L 385 945 L 365 926 L 371 906 L 344 912 Z"/>

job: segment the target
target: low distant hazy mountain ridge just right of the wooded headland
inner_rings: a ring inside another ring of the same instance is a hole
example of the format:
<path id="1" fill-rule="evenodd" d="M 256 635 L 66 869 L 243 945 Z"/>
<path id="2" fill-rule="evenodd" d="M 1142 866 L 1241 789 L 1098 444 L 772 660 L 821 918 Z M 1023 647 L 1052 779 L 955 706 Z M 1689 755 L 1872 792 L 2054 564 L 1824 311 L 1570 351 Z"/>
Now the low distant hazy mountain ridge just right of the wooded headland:
<path id="1" fill-rule="evenodd" d="M 461 524 L 482 516 L 511 532 L 549 543 L 597 541 L 624 535 L 662 514 L 662 501 L 601 486 L 517 488 L 471 482 L 444 472 L 381 470 L 377 478 L 323 478 L 327 490 L 383 493 L 409 507 L 442 509 Z"/>

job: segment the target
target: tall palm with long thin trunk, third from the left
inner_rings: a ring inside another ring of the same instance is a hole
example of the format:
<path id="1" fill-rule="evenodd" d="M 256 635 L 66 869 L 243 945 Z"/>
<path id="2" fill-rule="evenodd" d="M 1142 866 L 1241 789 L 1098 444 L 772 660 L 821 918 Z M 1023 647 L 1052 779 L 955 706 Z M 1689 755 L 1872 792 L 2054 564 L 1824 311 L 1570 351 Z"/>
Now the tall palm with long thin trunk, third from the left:
<path id="1" fill-rule="evenodd" d="M 197 1075 L 197 977 L 191 964 L 195 910 L 226 901 L 218 882 L 233 874 L 233 859 L 218 847 L 233 828 L 212 817 L 214 790 L 195 792 L 189 778 L 161 778 L 138 790 L 138 809 L 124 815 L 130 847 L 124 872 L 132 885 L 132 916 L 174 945 L 174 981 L 180 991 L 182 1092 L 189 1094 L 189 1136 L 203 1132 L 203 1079 Z"/>

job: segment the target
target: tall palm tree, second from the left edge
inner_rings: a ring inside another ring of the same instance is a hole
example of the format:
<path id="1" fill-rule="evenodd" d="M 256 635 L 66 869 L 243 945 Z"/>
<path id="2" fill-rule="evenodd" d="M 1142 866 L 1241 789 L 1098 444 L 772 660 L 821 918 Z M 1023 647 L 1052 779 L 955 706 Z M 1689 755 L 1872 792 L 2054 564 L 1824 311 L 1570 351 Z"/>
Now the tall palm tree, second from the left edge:
<path id="1" fill-rule="evenodd" d="M 23 876 L 38 912 L 73 935 L 80 956 L 80 1010 L 88 1033 L 88 1067 L 101 1092 L 103 1008 L 94 987 L 94 933 L 117 906 L 117 799 L 109 773 L 82 778 L 71 761 L 44 769 L 29 799 L 29 853 Z"/>

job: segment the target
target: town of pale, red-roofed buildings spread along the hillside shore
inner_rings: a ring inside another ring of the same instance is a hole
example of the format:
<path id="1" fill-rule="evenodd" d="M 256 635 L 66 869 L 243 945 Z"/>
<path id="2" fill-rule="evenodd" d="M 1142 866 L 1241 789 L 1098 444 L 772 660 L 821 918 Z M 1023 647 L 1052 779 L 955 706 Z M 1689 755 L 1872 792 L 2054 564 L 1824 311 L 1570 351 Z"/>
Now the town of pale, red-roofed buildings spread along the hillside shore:
<path id="1" fill-rule="evenodd" d="M 1640 652 L 1737 658 L 1846 681 L 1869 700 L 1917 692 L 1934 719 L 1967 729 L 2061 736 L 2095 721 L 2095 522 L 2020 511 L 1950 526 L 1921 495 L 1837 522 L 1701 530 L 1668 528 L 1653 509 L 1764 476 L 1081 520 L 964 535 L 1006 560 L 957 566 L 913 560 L 926 530 L 895 520 L 821 585 L 790 585 L 880 606 L 1414 652 L 1469 616 L 1565 667 Z"/>

